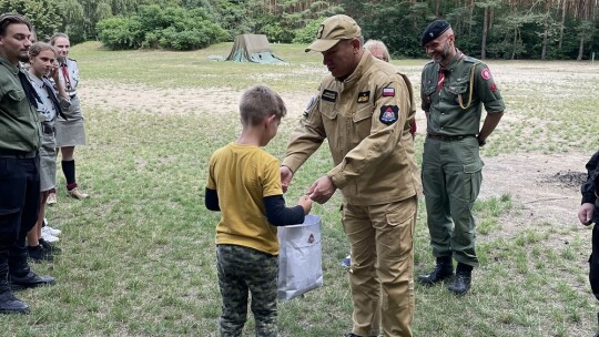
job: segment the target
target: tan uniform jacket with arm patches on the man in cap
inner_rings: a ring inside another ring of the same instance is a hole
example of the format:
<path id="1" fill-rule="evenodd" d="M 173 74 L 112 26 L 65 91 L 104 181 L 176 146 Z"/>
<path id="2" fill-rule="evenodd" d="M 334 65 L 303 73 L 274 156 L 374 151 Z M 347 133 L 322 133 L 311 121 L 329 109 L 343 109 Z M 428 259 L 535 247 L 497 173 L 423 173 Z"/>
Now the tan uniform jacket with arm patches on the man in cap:
<path id="1" fill-rule="evenodd" d="M 282 164 L 296 172 L 326 139 L 335 163 L 327 175 L 347 203 L 409 198 L 420 190 L 409 133 L 413 101 L 409 80 L 365 50 L 347 79 L 328 75 L 321 83 Z"/>

